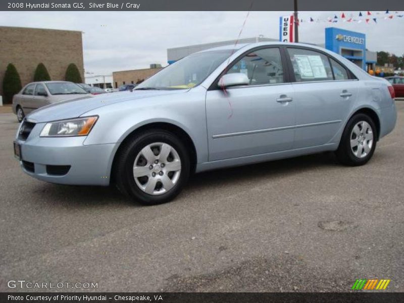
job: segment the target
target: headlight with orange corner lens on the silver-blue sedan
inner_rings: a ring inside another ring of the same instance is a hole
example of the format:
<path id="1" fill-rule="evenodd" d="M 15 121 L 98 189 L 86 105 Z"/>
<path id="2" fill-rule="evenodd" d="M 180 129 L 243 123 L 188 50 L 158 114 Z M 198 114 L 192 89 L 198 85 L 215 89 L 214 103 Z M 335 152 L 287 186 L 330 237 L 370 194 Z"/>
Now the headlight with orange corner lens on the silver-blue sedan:
<path id="1" fill-rule="evenodd" d="M 63 137 L 63 136 L 86 136 L 94 126 L 98 117 L 85 117 L 71 120 L 61 120 L 46 123 L 39 136 Z"/>

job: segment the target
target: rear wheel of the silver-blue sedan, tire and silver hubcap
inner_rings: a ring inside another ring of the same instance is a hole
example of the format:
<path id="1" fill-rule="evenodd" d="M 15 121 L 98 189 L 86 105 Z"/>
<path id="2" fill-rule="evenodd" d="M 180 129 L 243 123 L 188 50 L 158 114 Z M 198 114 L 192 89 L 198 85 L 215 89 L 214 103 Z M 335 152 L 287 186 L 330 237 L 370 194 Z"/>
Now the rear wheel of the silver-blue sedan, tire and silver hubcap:
<path id="1" fill-rule="evenodd" d="M 357 114 L 350 118 L 345 126 L 338 149 L 337 159 L 345 165 L 366 164 L 376 148 L 376 127 L 366 114 Z"/>

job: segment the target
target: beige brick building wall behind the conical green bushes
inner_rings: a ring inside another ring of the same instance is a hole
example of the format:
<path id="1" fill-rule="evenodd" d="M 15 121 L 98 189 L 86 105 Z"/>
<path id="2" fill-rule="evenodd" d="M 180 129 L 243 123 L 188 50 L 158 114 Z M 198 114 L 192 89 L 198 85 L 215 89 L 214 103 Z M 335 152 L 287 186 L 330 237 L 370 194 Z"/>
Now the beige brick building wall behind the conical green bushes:
<path id="1" fill-rule="evenodd" d="M 67 66 L 74 63 L 84 81 L 81 32 L 0 26 L 0 95 L 9 63 L 17 68 L 23 86 L 33 81 L 39 63 L 52 80 L 65 80 Z"/>

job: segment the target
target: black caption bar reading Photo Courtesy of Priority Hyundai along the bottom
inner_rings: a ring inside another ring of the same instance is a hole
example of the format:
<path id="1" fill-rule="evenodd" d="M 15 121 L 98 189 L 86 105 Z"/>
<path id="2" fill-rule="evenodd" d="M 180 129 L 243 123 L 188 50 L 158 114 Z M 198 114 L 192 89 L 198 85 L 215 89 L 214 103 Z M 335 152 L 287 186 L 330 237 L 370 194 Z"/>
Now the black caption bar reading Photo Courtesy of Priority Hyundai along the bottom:
<path id="1" fill-rule="evenodd" d="M 186 292 L 186 293 L 131 293 L 131 292 L 20 292 L 0 293 L 2 303 L 373 303 L 403 302 L 404 293 L 352 292 L 352 293 L 254 293 L 254 292 Z"/>

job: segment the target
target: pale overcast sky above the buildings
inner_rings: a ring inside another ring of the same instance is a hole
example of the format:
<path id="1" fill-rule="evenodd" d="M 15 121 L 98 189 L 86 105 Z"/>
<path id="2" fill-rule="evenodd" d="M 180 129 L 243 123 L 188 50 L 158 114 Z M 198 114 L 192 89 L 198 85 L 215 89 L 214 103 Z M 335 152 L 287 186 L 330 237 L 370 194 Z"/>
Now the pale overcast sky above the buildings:
<path id="1" fill-rule="evenodd" d="M 263 35 L 279 38 L 279 17 L 291 12 L 0 12 L 0 26 L 78 30 L 83 32 L 84 69 L 87 74 L 167 65 L 167 48 Z M 363 12 L 365 13 L 365 12 Z M 378 23 L 307 22 L 326 20 L 342 12 L 300 12 L 299 41 L 324 43 L 324 29 L 335 26 L 362 32 L 370 51 L 404 54 L 404 18 Z M 357 17 L 359 12 L 344 12 Z M 346 18 L 346 19 L 347 19 Z M 242 24 L 246 19 L 244 27 Z M 346 20 L 345 19 L 345 20 Z"/>

